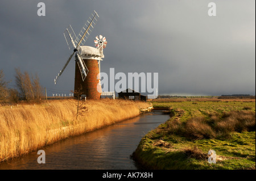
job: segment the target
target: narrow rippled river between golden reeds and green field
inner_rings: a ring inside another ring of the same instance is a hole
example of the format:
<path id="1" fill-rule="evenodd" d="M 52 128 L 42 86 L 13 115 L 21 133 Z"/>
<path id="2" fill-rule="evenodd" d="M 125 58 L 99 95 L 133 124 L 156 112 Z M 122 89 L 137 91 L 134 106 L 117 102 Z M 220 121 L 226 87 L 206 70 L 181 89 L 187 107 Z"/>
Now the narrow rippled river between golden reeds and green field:
<path id="1" fill-rule="evenodd" d="M 0 169 L 90 169 L 134 170 L 130 155 L 141 138 L 169 119 L 160 112 L 144 113 L 94 132 L 68 138 L 43 148 L 46 163 L 39 164 L 36 153 L 0 163 Z"/>

